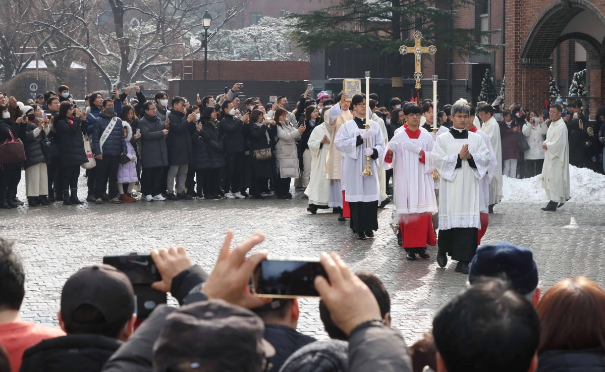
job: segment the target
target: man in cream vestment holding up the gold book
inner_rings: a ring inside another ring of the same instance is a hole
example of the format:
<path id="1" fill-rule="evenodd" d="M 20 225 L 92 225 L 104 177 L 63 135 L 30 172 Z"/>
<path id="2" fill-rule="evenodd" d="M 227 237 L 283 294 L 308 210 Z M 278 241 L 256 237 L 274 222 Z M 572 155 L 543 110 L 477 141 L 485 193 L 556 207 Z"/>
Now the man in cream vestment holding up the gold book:
<path id="1" fill-rule="evenodd" d="M 330 139 L 336 138 L 336 133 L 340 127 L 348 120 L 353 119 L 353 114 L 348 110 L 351 105 L 351 100 L 347 93 L 341 92 L 336 96 L 338 102 L 325 112 L 325 128 L 330 132 Z M 341 163 L 342 156 L 339 154 L 334 141 L 330 142 L 328 154 L 325 158 L 325 177 L 330 181 L 330 193 L 328 206 L 335 208 L 335 212 L 339 213 L 338 220 L 344 221 L 342 215 L 342 181 L 341 181 Z"/>

